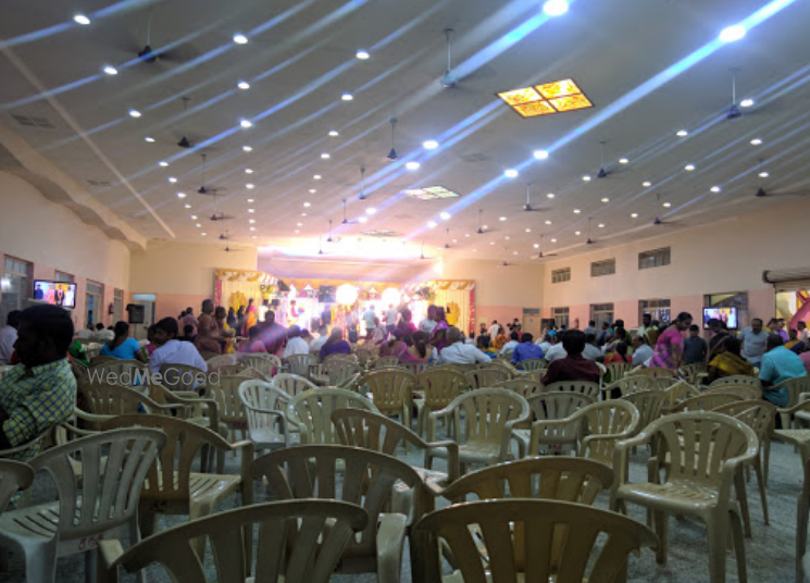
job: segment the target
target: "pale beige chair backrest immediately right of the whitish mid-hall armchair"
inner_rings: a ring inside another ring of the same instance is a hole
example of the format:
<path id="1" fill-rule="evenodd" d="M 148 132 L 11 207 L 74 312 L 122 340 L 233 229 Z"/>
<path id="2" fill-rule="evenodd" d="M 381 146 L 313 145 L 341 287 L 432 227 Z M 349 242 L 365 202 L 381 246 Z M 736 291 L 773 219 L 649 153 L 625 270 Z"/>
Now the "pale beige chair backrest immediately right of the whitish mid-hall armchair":
<path id="1" fill-rule="evenodd" d="M 372 401 L 351 390 L 312 388 L 290 399 L 287 418 L 301 432 L 302 444 L 335 444 L 332 413 L 349 407 L 379 412 Z"/>

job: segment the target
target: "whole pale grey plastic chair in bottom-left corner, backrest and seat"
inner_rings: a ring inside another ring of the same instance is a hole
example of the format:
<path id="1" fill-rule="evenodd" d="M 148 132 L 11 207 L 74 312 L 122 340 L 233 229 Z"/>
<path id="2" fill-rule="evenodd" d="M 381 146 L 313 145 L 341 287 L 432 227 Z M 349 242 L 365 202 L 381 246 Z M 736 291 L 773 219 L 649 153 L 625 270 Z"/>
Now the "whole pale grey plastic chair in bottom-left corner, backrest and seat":
<path id="1" fill-rule="evenodd" d="M 140 488 L 165 442 L 166 436 L 152 429 L 108 431 L 54 447 L 30 461 L 35 472 L 51 475 L 59 499 L 0 516 L 0 545 L 25 557 L 28 583 L 55 581 L 57 558 L 77 553 L 87 553 L 85 579 L 92 581 L 100 541 L 121 535 L 130 544 L 140 541 Z M 77 456 L 80 479 L 71 463 Z M 145 582 L 142 575 L 139 581 Z"/>

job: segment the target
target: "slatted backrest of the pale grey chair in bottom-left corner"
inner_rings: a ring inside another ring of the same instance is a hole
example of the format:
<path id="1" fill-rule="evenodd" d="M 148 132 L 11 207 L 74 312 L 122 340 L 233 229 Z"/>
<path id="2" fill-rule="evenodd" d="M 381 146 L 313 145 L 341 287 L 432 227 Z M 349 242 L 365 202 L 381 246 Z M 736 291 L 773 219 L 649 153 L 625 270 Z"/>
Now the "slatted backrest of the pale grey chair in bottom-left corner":
<path id="1" fill-rule="evenodd" d="M 47 471 L 55 483 L 59 537 L 90 536 L 129 521 L 147 472 L 165 443 L 166 436 L 153 429 L 105 431 L 30 460 L 34 472 Z M 72 463 L 77 458 L 79 466 Z"/>

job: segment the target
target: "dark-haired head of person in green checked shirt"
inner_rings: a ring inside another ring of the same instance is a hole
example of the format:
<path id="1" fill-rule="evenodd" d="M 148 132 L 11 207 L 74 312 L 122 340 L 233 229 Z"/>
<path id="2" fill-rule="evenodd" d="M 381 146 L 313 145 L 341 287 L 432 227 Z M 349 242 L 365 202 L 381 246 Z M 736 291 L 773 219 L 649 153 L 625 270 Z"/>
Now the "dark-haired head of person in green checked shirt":
<path id="1" fill-rule="evenodd" d="M 59 306 L 32 306 L 20 313 L 14 348 L 26 367 L 40 367 L 65 358 L 72 342 L 73 320 Z"/>

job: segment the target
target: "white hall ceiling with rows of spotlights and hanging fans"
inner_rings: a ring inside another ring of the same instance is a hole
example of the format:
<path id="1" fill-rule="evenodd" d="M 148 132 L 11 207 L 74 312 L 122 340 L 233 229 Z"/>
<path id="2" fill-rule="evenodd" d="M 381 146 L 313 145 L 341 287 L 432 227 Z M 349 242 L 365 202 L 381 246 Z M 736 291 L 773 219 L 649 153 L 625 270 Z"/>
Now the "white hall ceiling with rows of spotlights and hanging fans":
<path id="1" fill-rule="evenodd" d="M 576 0 L 568 14 L 550 20 L 540 4 L 15 3 L 0 22 L 0 120 L 147 237 L 208 240 L 227 230 L 237 243 L 292 256 L 324 250 L 327 257 L 413 258 L 424 244 L 425 255 L 520 261 L 537 253 L 540 234 L 546 250 L 584 250 L 588 218 L 591 238 L 613 244 L 784 202 L 787 194 L 810 194 L 808 2 L 782 0 L 781 11 L 728 45 L 716 40 L 723 27 L 777 2 Z M 88 14 L 91 24 L 74 24 L 73 10 Z M 177 62 L 134 59 L 146 44 L 150 17 L 151 46 L 176 45 Z M 448 26 L 456 30 L 457 74 L 472 74 L 459 87 L 443 89 Z M 235 33 L 249 42 L 234 44 Z M 369 60 L 354 58 L 361 48 Z M 101 73 L 105 64 L 119 74 Z M 730 67 L 740 70 L 738 99 L 757 101 L 732 121 L 724 119 Z M 495 96 L 566 77 L 595 108 L 522 120 Z M 241 79 L 251 88 L 237 89 Z M 340 99 L 345 91 L 353 101 Z M 133 108 L 140 119 L 127 114 Z M 53 127 L 25 127 L 12 115 L 41 116 Z M 385 159 L 392 115 L 399 120 L 396 163 Z M 253 127 L 240 128 L 240 119 L 253 120 Z M 682 128 L 688 137 L 675 135 Z M 329 137 L 331 129 L 339 137 Z M 184 135 L 202 145 L 205 183 L 226 189 L 217 211 L 233 220 L 208 220 L 212 198 L 196 193 L 201 152 L 178 148 Z M 155 142 L 146 142 L 147 136 Z M 428 138 L 441 147 L 424 150 Z M 753 138 L 763 144 L 750 145 Z M 610 175 L 597 179 L 602 140 Z M 244 145 L 252 152 L 244 152 Z M 548 160 L 534 160 L 538 148 L 550 150 Z M 331 158 L 322 160 L 323 152 Z M 630 163 L 619 164 L 622 157 Z M 169 168 L 160 168 L 161 160 Z M 407 171 L 407 160 L 420 161 L 421 169 Z M 759 160 L 770 173 L 765 179 L 757 176 Z M 688 163 L 694 172 L 684 170 Z M 361 166 L 365 201 L 358 200 Z M 520 177 L 503 177 L 510 168 L 520 169 Z M 314 174 L 323 179 L 314 181 Z M 585 183 L 585 174 L 594 179 Z M 170 176 L 178 182 L 170 184 Z M 643 187 L 644 181 L 653 186 Z M 246 189 L 247 183 L 256 188 Z M 526 183 L 543 212 L 522 210 Z M 785 196 L 756 198 L 760 184 Z M 431 185 L 463 196 L 429 202 L 399 196 L 403 188 Z M 721 193 L 710 191 L 715 185 Z M 311 188 L 317 191 L 310 194 Z M 180 200 L 177 191 L 188 196 Z M 610 201 L 601 202 L 603 197 Z M 370 206 L 377 213 L 364 225 L 339 226 L 344 198 L 350 219 Z M 490 227 L 485 235 L 475 234 L 478 209 Z M 440 221 L 443 211 L 452 218 Z M 673 223 L 655 226 L 656 216 Z M 325 243 L 329 219 L 340 245 Z M 440 223 L 433 230 L 432 219 Z M 358 241 L 370 228 L 406 237 Z"/>

